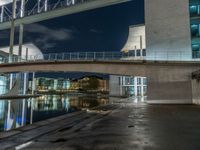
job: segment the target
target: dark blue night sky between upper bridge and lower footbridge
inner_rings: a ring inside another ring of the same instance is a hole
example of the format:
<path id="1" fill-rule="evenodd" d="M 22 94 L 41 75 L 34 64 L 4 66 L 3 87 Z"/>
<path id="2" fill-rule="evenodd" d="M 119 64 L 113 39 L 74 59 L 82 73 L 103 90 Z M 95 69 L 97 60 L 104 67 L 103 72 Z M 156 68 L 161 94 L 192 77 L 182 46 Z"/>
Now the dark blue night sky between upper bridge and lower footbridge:
<path id="1" fill-rule="evenodd" d="M 24 43 L 43 53 L 120 51 L 129 26 L 144 23 L 144 0 L 104 7 L 25 26 Z M 16 29 L 15 44 L 18 42 Z M 0 47 L 9 45 L 9 30 L 0 31 Z"/>

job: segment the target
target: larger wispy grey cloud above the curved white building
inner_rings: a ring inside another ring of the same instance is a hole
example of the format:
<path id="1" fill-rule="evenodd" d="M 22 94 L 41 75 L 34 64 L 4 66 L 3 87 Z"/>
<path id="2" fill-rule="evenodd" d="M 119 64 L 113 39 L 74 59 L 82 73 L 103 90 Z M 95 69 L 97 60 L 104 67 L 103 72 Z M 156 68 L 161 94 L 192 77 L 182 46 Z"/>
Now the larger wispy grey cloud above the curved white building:
<path id="1" fill-rule="evenodd" d="M 68 41 L 73 39 L 74 30 L 72 29 L 52 29 L 40 24 L 29 25 L 25 28 L 28 36 L 29 33 L 37 34 L 39 37 L 34 39 L 34 43 L 39 45 L 42 49 L 48 49 L 56 46 L 59 41 Z"/>

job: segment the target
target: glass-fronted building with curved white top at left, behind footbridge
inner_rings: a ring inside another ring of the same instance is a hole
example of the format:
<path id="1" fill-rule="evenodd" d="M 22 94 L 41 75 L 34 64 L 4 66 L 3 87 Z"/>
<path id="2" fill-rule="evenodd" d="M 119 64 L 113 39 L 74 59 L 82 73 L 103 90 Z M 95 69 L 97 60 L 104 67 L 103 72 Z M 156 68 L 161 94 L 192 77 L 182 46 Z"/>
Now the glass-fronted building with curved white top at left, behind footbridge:
<path id="1" fill-rule="evenodd" d="M 13 58 L 18 60 L 19 46 L 13 47 Z M 43 54 L 41 50 L 32 43 L 24 44 L 22 46 L 22 59 L 41 59 Z M 35 57 L 37 56 L 37 57 Z M 8 62 L 9 47 L 0 48 L 0 63 Z M 19 94 L 25 94 L 28 87 L 28 73 L 10 74 L 0 76 L 0 94 L 6 94 L 9 89 L 12 89 L 15 82 L 20 81 Z M 11 93 L 12 94 L 12 93 Z"/>

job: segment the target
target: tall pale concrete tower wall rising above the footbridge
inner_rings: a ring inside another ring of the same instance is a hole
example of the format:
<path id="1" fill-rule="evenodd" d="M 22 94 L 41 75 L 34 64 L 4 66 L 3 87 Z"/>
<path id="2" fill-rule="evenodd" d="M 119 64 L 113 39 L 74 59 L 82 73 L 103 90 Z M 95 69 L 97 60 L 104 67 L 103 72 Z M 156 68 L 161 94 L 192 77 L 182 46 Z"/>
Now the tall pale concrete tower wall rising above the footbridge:
<path id="1" fill-rule="evenodd" d="M 145 0 L 147 59 L 191 59 L 189 0 Z"/>

